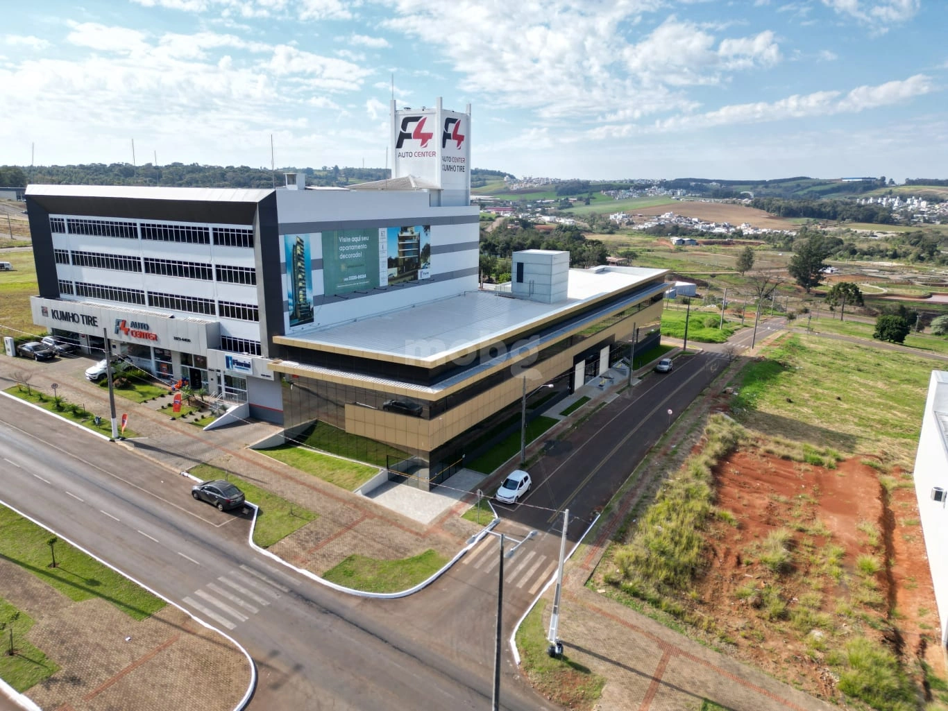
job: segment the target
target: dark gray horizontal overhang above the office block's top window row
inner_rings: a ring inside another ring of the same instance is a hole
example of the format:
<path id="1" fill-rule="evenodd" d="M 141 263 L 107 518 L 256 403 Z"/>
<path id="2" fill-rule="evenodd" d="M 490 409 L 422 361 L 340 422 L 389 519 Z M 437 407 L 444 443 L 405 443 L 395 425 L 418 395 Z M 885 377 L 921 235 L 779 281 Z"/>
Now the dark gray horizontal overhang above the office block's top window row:
<path id="1" fill-rule="evenodd" d="M 276 200 L 272 194 L 264 200 L 270 198 Z M 130 220 L 252 225 L 257 213 L 257 203 L 255 202 L 149 200 L 131 197 L 92 197 L 88 195 L 30 195 L 29 199 L 50 214 L 118 217 Z"/>

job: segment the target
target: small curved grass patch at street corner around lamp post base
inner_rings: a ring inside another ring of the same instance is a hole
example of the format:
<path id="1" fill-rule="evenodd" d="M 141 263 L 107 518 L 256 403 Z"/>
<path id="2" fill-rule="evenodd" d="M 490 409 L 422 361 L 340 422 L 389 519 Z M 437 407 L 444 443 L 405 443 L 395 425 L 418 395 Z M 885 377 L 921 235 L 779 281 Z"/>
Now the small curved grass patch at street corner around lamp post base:
<path id="1" fill-rule="evenodd" d="M 543 627 L 547 603 L 535 607 L 517 630 L 517 648 L 523 672 L 545 698 L 576 711 L 592 711 L 602 695 L 606 678 L 570 659 L 567 647 L 561 658 L 547 654 L 549 643 Z"/>

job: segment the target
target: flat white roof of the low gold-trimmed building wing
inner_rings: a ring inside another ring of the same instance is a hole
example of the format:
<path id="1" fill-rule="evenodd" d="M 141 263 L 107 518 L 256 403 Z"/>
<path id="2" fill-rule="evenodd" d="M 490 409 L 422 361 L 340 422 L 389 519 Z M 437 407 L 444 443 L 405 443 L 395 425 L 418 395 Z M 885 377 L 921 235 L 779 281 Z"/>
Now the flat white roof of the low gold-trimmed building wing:
<path id="1" fill-rule="evenodd" d="M 502 292 L 472 291 L 293 337 L 329 347 L 433 362 L 664 273 L 665 269 L 641 267 L 570 269 L 567 299 L 557 303 L 517 299 Z"/>

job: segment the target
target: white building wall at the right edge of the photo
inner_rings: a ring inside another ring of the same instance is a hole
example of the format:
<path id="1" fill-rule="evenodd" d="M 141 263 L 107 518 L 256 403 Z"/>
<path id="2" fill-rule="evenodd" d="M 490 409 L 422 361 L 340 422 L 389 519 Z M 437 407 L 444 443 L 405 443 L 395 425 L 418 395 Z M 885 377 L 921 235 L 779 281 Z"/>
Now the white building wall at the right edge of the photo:
<path id="1" fill-rule="evenodd" d="M 941 646 L 945 647 L 948 642 L 948 556 L 944 556 L 944 552 L 948 551 L 948 508 L 945 501 L 932 498 L 935 487 L 948 492 L 948 445 L 939 423 L 939 412 L 948 415 L 948 373 L 933 371 L 921 420 L 914 480 L 925 551 L 939 607 Z"/>

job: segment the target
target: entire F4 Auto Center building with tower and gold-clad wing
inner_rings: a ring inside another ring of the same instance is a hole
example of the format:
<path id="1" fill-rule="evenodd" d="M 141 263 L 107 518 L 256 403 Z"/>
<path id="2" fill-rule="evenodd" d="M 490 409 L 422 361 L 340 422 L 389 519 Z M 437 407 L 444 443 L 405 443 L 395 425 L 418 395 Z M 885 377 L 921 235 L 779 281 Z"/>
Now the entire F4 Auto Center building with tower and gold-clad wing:
<path id="1" fill-rule="evenodd" d="M 657 341 L 665 292 L 665 270 L 542 250 L 479 290 L 469 131 L 440 100 L 392 106 L 392 178 L 345 190 L 29 186 L 33 319 L 437 482 L 523 392 Z"/>

